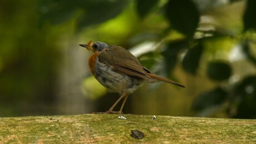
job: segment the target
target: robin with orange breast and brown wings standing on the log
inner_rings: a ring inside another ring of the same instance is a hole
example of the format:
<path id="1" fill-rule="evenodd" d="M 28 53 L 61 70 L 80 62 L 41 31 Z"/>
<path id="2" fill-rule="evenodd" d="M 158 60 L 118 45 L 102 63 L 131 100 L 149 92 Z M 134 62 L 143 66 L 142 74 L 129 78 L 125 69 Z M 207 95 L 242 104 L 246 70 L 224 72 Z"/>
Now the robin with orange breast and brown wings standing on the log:
<path id="1" fill-rule="evenodd" d="M 104 112 L 106 114 L 122 114 L 127 97 L 140 88 L 142 83 L 164 81 L 185 88 L 184 85 L 175 81 L 151 73 L 129 50 L 123 47 L 103 42 L 92 43 L 92 41 L 80 46 L 93 52 L 88 58 L 88 66 L 95 79 L 109 91 L 121 95 L 114 105 Z M 122 99 L 124 100 L 120 110 L 114 111 L 115 106 Z"/>

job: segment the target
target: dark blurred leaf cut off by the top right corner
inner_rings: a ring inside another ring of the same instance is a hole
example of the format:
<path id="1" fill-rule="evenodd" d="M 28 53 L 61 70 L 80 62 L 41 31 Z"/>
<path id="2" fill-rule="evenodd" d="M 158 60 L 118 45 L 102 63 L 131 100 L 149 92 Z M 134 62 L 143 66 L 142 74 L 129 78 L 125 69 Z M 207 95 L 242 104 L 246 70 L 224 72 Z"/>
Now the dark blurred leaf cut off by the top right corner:
<path id="1" fill-rule="evenodd" d="M 256 1 L 248 0 L 247 8 L 244 12 L 243 22 L 244 22 L 244 30 L 248 29 L 256 29 Z"/>

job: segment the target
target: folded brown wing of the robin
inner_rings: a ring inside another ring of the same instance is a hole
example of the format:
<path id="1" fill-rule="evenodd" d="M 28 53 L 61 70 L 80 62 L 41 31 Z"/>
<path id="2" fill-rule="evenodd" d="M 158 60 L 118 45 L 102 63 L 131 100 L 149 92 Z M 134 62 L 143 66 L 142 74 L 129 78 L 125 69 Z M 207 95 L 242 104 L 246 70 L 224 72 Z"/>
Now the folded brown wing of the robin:
<path id="1" fill-rule="evenodd" d="M 125 48 L 112 45 L 99 53 L 99 60 L 101 63 L 112 66 L 113 70 L 121 73 L 137 76 L 152 82 L 156 81 L 146 75 L 147 72 L 144 70 L 139 60 Z"/>

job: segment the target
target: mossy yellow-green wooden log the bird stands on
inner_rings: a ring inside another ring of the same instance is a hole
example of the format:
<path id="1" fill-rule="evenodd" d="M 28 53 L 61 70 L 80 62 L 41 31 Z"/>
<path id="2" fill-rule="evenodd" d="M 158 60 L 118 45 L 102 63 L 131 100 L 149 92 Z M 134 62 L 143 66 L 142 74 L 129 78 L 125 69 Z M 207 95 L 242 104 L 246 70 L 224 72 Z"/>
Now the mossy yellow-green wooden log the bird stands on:
<path id="1" fill-rule="evenodd" d="M 86 114 L 0 118 L 0 143 L 256 143 L 256 120 Z M 144 134 L 131 137 L 131 130 Z"/>

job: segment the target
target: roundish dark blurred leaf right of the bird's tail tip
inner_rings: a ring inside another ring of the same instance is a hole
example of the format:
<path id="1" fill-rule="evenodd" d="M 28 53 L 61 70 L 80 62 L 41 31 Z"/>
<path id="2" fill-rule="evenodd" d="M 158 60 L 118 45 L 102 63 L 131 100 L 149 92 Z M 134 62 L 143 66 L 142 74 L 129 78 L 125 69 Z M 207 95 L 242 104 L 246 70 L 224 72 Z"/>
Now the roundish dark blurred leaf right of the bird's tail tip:
<path id="1" fill-rule="evenodd" d="M 225 61 L 211 61 L 208 63 L 206 73 L 210 79 L 222 81 L 227 80 L 231 76 L 232 69 Z"/>

